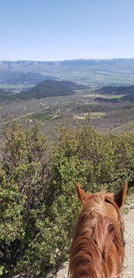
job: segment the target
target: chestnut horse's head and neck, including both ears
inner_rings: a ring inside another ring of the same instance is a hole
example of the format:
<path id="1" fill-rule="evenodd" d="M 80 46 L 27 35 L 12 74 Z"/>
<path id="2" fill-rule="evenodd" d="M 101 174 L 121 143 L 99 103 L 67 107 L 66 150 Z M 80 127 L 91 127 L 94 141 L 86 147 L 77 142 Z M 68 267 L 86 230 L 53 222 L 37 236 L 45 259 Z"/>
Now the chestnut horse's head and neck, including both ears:
<path id="1" fill-rule="evenodd" d="M 119 278 L 124 260 L 124 224 L 119 208 L 127 183 L 119 193 L 86 194 L 75 184 L 82 202 L 70 250 L 70 278 Z"/>

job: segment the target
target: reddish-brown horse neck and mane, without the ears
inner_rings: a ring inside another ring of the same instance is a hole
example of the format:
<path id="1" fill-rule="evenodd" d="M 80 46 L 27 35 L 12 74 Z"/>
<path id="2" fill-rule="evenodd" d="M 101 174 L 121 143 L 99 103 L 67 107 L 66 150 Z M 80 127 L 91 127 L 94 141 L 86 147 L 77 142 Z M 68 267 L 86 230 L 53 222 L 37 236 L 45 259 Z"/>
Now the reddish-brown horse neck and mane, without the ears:
<path id="1" fill-rule="evenodd" d="M 70 250 L 71 278 L 117 278 L 124 246 L 119 223 L 104 212 L 102 196 L 90 199 L 80 213 Z"/>

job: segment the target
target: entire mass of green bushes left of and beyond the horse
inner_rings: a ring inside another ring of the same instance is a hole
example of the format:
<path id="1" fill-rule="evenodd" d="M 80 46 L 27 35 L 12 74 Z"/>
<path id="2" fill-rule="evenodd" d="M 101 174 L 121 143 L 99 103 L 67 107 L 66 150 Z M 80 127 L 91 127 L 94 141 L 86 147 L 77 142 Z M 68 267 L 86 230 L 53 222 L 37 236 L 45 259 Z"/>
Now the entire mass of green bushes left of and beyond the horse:
<path id="1" fill-rule="evenodd" d="M 30 272 L 68 258 L 79 202 L 88 192 L 117 190 L 133 179 L 133 136 L 102 135 L 87 124 L 61 126 L 50 144 L 38 126 L 6 126 L 1 158 L 0 275 Z"/>

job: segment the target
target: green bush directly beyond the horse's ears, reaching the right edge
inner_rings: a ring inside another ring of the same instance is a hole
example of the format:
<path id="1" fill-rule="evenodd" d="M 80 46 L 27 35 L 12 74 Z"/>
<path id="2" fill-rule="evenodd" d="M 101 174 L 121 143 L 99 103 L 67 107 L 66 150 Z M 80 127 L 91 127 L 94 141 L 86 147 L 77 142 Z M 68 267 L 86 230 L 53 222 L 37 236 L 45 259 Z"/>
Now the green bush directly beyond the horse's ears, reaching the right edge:
<path id="1" fill-rule="evenodd" d="M 62 126 L 57 142 L 57 157 L 61 171 L 66 173 L 66 183 L 70 177 L 66 167 L 70 172 L 73 170 L 75 179 L 90 192 L 103 188 L 117 190 L 124 181 L 133 179 L 134 144 L 131 133 L 103 135 L 88 125 L 76 129 Z"/>

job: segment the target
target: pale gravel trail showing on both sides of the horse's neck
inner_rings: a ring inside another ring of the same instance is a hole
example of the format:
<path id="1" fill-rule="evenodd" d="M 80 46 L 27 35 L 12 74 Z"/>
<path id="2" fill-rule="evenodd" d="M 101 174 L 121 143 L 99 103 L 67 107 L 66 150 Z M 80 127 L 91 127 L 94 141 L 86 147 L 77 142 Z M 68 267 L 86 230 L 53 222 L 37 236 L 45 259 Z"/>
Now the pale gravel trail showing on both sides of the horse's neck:
<path id="1" fill-rule="evenodd" d="M 134 199 L 126 206 L 128 213 L 124 215 L 125 222 L 125 258 L 122 278 L 134 278 Z M 50 274 L 47 278 L 67 278 L 68 263 L 65 263 L 57 274 Z"/>

